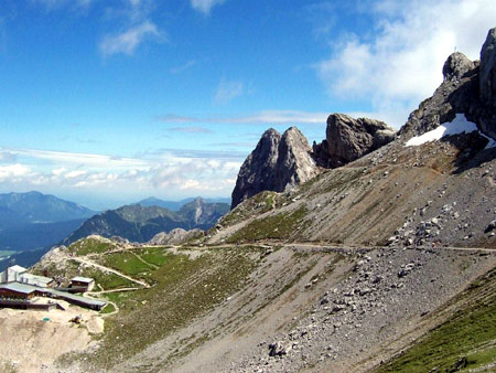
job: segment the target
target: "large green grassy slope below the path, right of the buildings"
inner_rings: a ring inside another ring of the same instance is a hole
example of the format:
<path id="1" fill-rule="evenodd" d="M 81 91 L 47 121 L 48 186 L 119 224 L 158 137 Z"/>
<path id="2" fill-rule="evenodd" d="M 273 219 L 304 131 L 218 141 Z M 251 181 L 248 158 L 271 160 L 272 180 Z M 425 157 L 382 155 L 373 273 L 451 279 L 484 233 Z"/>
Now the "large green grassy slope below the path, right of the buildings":
<path id="1" fill-rule="evenodd" d="M 94 242 L 88 245 L 86 248 L 83 242 L 77 252 L 100 252 Z M 89 360 L 97 370 L 109 369 L 212 310 L 245 284 L 255 266 L 254 257 L 259 257 L 256 248 L 209 251 L 192 259 L 186 254 L 166 253 L 163 247 L 143 247 L 94 258 L 128 276 L 142 278 L 152 287 L 105 295 L 118 305 L 119 312 L 107 319 L 103 348 Z M 85 274 L 95 277 L 105 289 L 125 287 L 120 284 L 125 279 L 107 274 L 100 277 L 96 271 Z M 104 309 L 103 313 L 110 311 Z M 61 361 L 73 359 L 80 356 L 65 356 Z"/>

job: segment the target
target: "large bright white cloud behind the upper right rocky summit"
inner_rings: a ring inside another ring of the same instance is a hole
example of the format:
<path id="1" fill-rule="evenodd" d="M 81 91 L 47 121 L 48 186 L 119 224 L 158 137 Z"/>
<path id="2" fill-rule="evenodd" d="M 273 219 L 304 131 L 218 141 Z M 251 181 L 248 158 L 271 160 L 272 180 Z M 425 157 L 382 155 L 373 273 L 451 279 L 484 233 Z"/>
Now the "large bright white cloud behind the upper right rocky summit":
<path id="1" fill-rule="evenodd" d="M 478 58 L 496 19 L 493 0 L 414 0 L 400 6 L 382 0 L 370 8 L 376 17 L 373 38 L 347 34 L 315 67 L 331 96 L 369 99 L 374 111 L 396 127 L 432 95 L 455 47 Z"/>

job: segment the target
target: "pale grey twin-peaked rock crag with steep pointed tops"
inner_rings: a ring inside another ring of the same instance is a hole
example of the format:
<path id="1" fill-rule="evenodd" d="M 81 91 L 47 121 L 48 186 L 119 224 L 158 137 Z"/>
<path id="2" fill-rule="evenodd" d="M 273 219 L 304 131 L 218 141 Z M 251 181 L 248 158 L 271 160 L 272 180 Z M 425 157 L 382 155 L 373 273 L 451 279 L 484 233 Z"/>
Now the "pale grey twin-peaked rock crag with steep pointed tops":
<path id="1" fill-rule="evenodd" d="M 261 191 L 282 192 L 316 175 L 319 168 L 311 151 L 296 127 L 282 136 L 268 129 L 239 170 L 231 209 Z"/>

